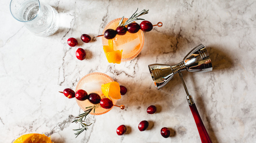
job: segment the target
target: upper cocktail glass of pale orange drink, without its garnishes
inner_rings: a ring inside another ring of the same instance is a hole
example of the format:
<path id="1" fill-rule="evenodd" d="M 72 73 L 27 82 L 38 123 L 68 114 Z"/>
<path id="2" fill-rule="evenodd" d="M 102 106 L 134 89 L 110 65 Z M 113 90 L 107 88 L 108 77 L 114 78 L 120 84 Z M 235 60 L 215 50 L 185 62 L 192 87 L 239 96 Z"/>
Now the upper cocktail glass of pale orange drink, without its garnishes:
<path id="1" fill-rule="evenodd" d="M 121 18 L 114 19 L 108 23 L 104 30 L 103 34 L 107 29 L 116 30 L 117 25 Z M 123 23 L 127 21 L 128 18 L 123 19 Z M 144 45 L 144 34 L 143 31 L 139 30 L 137 33 L 127 33 L 125 35 L 117 35 L 113 40 L 114 50 L 123 50 L 121 62 L 126 62 L 132 60 L 141 52 Z M 108 45 L 108 40 L 102 37 L 102 44 Z"/>

